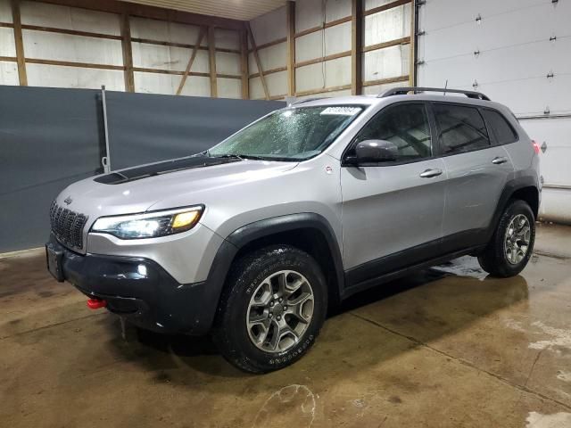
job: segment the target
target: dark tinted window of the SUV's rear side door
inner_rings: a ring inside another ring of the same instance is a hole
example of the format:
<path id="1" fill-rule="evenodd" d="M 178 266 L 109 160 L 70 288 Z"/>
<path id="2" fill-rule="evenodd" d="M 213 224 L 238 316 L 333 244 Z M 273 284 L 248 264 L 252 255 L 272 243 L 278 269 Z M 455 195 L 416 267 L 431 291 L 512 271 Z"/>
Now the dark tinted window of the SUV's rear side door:
<path id="1" fill-rule="evenodd" d="M 438 141 L 444 153 L 470 152 L 490 146 L 484 119 L 473 107 L 434 104 Z"/>

